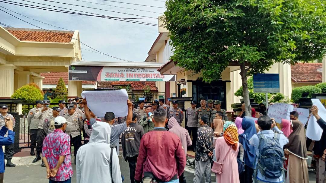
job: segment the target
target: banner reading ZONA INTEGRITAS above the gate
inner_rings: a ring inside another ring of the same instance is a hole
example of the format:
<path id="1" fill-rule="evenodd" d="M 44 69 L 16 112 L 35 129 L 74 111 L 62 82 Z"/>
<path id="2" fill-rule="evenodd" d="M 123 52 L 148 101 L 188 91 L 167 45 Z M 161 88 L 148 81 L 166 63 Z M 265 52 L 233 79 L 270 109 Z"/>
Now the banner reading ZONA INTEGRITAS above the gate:
<path id="1" fill-rule="evenodd" d="M 69 81 L 175 81 L 156 67 L 108 67 L 69 65 Z"/>

